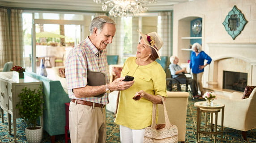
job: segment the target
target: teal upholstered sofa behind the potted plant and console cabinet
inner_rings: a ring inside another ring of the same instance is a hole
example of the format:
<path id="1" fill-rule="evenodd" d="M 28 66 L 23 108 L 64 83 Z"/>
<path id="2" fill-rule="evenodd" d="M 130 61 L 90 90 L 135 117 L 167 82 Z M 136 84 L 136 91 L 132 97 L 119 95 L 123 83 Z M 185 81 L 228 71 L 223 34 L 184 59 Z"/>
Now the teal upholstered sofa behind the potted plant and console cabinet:
<path id="1" fill-rule="evenodd" d="M 51 142 L 54 142 L 55 135 L 65 134 L 64 103 L 70 102 L 68 94 L 65 93 L 59 80 L 51 80 L 34 72 L 26 71 L 25 74 L 43 82 L 43 130 L 51 136 Z"/>

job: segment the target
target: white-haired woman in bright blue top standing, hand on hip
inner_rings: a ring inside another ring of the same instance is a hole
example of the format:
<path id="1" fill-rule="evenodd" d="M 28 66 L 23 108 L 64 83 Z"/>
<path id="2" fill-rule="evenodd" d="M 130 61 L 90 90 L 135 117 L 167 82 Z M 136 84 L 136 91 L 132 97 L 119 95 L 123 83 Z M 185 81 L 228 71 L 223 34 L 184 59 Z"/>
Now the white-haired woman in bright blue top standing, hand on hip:
<path id="1" fill-rule="evenodd" d="M 211 63 L 212 59 L 209 57 L 209 55 L 201 50 L 201 45 L 199 43 L 194 43 L 192 45 L 192 50 L 193 52 L 191 53 L 189 67 L 192 68 L 193 79 L 198 84 L 197 87 L 200 88 L 202 96 L 204 94 L 202 84 L 202 76 L 203 72 L 205 71 L 204 68 Z M 205 60 L 207 60 L 207 63 L 204 64 Z"/>

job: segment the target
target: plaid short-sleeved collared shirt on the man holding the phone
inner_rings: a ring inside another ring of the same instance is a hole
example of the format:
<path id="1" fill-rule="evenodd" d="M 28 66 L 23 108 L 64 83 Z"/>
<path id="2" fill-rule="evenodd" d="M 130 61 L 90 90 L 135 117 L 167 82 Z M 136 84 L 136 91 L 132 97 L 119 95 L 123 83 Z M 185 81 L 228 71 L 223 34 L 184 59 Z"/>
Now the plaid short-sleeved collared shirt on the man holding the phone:
<path id="1" fill-rule="evenodd" d="M 107 64 L 107 50 L 98 50 L 87 37 L 84 41 L 70 50 L 65 64 L 65 74 L 68 85 L 68 97 L 94 103 L 108 103 L 107 93 L 101 98 L 83 97 L 76 98 L 72 89 L 87 85 L 87 71 L 99 71 L 107 75 L 109 82 L 109 67 Z"/>

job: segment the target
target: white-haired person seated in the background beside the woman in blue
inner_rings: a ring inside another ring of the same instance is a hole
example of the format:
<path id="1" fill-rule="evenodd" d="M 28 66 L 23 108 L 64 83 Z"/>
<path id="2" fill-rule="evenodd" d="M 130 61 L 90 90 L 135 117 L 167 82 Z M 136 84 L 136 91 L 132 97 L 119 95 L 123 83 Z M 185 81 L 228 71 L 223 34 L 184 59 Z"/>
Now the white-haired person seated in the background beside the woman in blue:
<path id="1" fill-rule="evenodd" d="M 178 63 L 179 63 L 179 58 L 176 57 L 175 55 L 171 56 L 170 58 L 170 66 L 169 69 L 171 71 L 171 76 L 173 79 L 177 80 L 179 83 L 177 83 L 178 89 L 180 89 L 179 84 L 190 84 L 191 90 L 193 97 L 199 97 L 198 96 L 198 89 L 197 85 L 194 79 L 191 78 L 186 78 L 184 73 L 187 73 L 186 67 L 181 68 Z"/>

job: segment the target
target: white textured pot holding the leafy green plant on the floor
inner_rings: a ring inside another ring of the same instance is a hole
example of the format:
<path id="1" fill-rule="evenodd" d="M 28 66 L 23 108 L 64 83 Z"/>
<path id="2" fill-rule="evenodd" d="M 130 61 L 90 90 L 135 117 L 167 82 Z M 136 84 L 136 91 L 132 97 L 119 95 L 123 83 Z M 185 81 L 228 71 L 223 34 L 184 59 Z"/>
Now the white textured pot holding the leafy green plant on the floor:
<path id="1" fill-rule="evenodd" d="M 42 126 L 36 126 L 36 127 L 38 127 L 38 129 L 35 129 L 35 130 L 27 129 L 28 127 L 26 127 L 25 133 L 26 133 L 26 139 L 28 143 L 41 143 L 43 139 L 43 127 Z"/>

